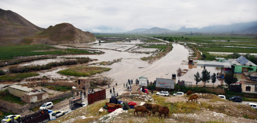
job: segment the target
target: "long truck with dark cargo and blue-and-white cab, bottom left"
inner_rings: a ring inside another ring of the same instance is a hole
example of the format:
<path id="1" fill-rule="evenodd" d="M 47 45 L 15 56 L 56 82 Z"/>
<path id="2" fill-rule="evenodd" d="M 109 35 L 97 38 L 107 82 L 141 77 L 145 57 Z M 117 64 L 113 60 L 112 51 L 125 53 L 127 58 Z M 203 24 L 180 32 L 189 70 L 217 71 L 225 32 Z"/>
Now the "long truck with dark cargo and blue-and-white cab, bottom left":
<path id="1" fill-rule="evenodd" d="M 18 121 L 19 123 L 39 123 L 39 122 L 46 122 L 46 121 L 51 121 L 55 119 L 56 119 L 55 112 L 44 109 L 44 110 L 39 110 L 28 116 L 27 115 L 23 116 L 17 119 L 16 121 Z"/>

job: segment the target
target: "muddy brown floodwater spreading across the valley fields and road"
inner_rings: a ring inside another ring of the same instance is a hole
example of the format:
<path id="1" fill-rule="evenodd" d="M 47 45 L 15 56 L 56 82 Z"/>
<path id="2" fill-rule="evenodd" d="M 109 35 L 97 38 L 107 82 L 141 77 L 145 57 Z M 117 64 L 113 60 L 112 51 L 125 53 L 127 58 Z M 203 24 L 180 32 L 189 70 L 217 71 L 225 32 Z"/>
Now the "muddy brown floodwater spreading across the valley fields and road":
<path id="1" fill-rule="evenodd" d="M 171 74 L 176 73 L 176 70 L 181 67 L 182 70 L 186 69 L 186 73 L 180 77 L 180 80 L 190 81 L 192 84 L 195 84 L 194 74 L 202 72 L 203 68 L 197 65 L 188 65 L 187 60 L 190 52 L 183 45 L 178 43 L 173 43 L 173 49 L 169 53 L 167 53 L 161 59 L 149 63 L 148 61 L 143 61 L 140 58 L 151 56 L 158 48 L 142 48 L 138 47 L 136 44 L 141 44 L 140 40 L 133 40 L 131 42 L 111 42 L 111 43 L 101 43 L 101 44 L 79 44 L 74 45 L 76 47 L 86 47 L 79 49 L 96 49 L 98 51 L 105 52 L 100 55 L 61 55 L 57 56 L 56 59 L 47 59 L 47 60 L 36 60 L 32 62 L 24 62 L 15 66 L 25 66 L 25 65 L 43 65 L 50 62 L 60 62 L 66 60 L 66 57 L 89 57 L 91 59 L 98 59 L 97 61 L 92 61 L 87 64 L 103 62 L 103 61 L 113 61 L 116 59 L 122 59 L 121 62 L 114 63 L 110 66 L 103 65 L 91 65 L 91 66 L 102 66 L 112 68 L 110 71 L 103 72 L 101 76 L 107 76 L 113 78 L 113 83 L 117 82 L 118 84 L 123 84 L 127 82 L 128 79 L 135 80 L 140 76 L 147 77 L 150 81 L 154 81 L 156 78 L 166 78 L 171 79 Z M 154 44 L 153 42 L 151 42 Z M 159 42 L 160 43 L 160 42 Z M 66 45 L 56 45 L 58 48 L 74 48 L 67 47 Z M 144 53 L 151 52 L 151 53 Z M 81 65 L 73 65 L 73 66 L 61 66 L 55 67 L 51 70 L 39 71 L 39 76 L 34 76 L 30 78 L 37 78 L 47 76 L 52 79 L 66 79 L 67 76 L 63 76 L 58 74 L 57 72 L 60 70 L 64 70 L 74 66 Z M 9 66 L 8 66 L 9 67 Z M 1 69 L 8 69 L 8 67 L 3 67 Z M 219 68 L 216 67 L 206 67 L 211 74 L 220 72 Z M 71 76 L 72 77 L 72 76 Z M 176 77 L 176 82 L 178 77 Z M 203 85 L 204 83 L 199 82 L 198 85 Z M 217 80 L 214 85 L 224 84 L 223 80 Z M 206 85 L 212 85 L 212 83 L 207 83 Z"/>

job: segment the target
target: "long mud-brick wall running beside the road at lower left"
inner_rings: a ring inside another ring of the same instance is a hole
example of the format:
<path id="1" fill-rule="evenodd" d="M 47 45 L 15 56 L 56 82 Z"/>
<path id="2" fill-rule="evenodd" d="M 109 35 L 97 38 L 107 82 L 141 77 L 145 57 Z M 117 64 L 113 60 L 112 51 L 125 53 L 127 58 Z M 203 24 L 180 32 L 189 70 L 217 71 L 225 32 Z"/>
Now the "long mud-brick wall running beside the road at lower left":
<path id="1" fill-rule="evenodd" d="M 8 101 L 0 100 L 0 110 L 5 111 L 5 112 L 22 113 L 24 111 L 29 110 L 30 108 L 34 108 L 36 106 L 43 105 L 44 103 L 49 102 L 49 101 L 58 100 L 60 98 L 71 96 L 72 94 L 73 94 L 72 91 L 65 92 L 65 93 L 59 94 L 55 97 L 45 99 L 40 102 L 36 102 L 34 104 L 29 104 L 28 106 L 22 106 L 22 105 L 19 105 L 16 103 L 10 103 Z"/>

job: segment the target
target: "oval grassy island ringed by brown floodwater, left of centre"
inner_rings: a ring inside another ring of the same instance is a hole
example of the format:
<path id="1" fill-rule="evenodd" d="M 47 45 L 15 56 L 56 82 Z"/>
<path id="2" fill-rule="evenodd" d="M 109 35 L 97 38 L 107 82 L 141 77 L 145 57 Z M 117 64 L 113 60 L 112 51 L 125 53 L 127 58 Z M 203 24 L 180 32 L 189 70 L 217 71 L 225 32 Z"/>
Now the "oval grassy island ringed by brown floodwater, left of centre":
<path id="1" fill-rule="evenodd" d="M 78 66 L 65 70 L 58 71 L 57 73 L 70 75 L 70 76 L 89 76 L 103 71 L 109 71 L 111 68 L 96 67 L 96 66 Z"/>

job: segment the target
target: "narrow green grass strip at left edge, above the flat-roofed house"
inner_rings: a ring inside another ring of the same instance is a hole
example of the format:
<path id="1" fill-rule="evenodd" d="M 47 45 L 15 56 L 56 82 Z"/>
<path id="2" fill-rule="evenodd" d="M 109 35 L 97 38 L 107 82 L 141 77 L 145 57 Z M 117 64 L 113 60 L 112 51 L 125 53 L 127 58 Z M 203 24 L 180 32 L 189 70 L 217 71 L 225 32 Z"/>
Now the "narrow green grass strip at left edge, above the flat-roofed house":
<path id="1" fill-rule="evenodd" d="M 24 78 L 31 77 L 31 76 L 38 76 L 38 73 L 29 72 L 29 73 L 8 73 L 5 75 L 0 76 L 0 80 L 17 80 L 20 81 Z"/>

